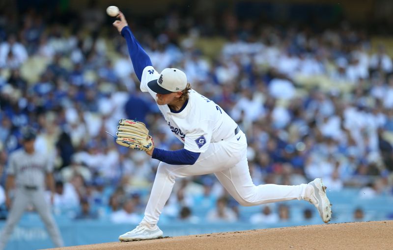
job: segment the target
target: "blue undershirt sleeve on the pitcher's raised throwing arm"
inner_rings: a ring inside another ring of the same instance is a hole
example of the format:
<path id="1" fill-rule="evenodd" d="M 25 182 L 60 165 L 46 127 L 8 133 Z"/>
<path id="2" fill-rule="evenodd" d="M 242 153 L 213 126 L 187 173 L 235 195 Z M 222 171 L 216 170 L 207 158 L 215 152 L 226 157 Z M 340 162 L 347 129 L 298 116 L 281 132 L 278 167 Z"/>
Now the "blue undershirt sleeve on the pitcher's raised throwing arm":
<path id="1" fill-rule="evenodd" d="M 121 35 L 126 39 L 128 53 L 130 54 L 135 74 L 140 81 L 140 79 L 142 78 L 143 69 L 147 66 L 152 66 L 150 57 L 147 56 L 142 46 L 140 46 L 139 42 L 134 37 L 130 27 L 124 27 L 121 30 Z"/>

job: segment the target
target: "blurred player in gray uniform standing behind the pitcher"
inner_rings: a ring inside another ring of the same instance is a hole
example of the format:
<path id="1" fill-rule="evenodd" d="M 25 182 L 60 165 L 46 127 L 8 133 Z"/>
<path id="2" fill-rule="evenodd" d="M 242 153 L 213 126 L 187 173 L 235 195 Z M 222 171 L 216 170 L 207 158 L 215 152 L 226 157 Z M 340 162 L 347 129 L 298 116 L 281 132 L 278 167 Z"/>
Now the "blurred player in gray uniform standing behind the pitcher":
<path id="1" fill-rule="evenodd" d="M 7 240 L 17 222 L 29 204 L 44 221 L 56 247 L 63 246 L 63 240 L 51 214 L 50 206 L 44 198 L 45 179 L 51 190 L 51 201 L 55 192 L 53 165 L 48 157 L 34 150 L 35 133 L 27 128 L 23 133 L 23 148 L 11 153 L 5 184 L 6 205 L 10 208 L 7 221 L 0 235 L 0 250 L 5 248 Z M 10 190 L 15 187 L 11 204 Z"/>

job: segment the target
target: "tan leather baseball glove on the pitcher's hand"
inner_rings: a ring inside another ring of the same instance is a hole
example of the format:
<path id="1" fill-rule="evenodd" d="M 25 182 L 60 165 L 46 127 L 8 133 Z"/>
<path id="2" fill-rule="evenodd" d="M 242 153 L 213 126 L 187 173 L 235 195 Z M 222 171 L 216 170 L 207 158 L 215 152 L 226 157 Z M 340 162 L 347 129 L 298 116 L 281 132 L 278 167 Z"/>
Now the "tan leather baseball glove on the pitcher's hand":
<path id="1" fill-rule="evenodd" d="M 121 119 L 116 136 L 116 143 L 125 147 L 143 151 L 154 148 L 153 139 L 143 122 Z"/>

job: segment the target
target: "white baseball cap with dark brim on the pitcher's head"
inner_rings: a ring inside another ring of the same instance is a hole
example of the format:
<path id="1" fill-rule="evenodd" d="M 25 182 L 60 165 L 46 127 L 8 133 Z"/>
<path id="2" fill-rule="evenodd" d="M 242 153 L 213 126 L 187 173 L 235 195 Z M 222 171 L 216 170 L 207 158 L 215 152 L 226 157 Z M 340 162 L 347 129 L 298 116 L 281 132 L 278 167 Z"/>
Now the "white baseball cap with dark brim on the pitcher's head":
<path id="1" fill-rule="evenodd" d="M 157 80 L 150 81 L 147 85 L 158 94 L 170 94 L 184 90 L 187 86 L 187 77 L 180 69 L 166 68 Z"/>

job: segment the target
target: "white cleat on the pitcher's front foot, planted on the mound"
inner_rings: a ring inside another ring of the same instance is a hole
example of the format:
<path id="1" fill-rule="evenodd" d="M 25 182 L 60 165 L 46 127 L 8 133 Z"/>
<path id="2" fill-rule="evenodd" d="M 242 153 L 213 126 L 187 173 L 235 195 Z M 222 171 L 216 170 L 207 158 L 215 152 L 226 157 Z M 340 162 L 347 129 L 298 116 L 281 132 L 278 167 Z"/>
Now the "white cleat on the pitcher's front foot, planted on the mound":
<path id="1" fill-rule="evenodd" d="M 163 231 L 155 225 L 150 227 L 143 222 L 132 231 L 126 232 L 119 236 L 120 241 L 139 241 L 139 240 L 152 240 L 163 237 Z"/>

